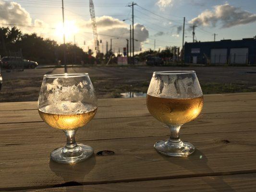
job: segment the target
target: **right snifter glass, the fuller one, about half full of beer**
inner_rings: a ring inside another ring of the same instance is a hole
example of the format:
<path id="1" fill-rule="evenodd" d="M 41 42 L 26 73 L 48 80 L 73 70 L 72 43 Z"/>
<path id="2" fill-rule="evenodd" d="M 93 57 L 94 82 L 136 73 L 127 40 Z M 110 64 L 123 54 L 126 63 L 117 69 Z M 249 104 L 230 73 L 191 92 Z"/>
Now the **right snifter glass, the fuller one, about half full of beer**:
<path id="1" fill-rule="evenodd" d="M 203 93 L 195 71 L 154 72 L 146 96 L 148 111 L 171 131 L 168 140 L 157 142 L 155 149 L 167 156 L 188 156 L 193 144 L 180 139 L 180 128 L 194 120 L 203 108 Z"/>

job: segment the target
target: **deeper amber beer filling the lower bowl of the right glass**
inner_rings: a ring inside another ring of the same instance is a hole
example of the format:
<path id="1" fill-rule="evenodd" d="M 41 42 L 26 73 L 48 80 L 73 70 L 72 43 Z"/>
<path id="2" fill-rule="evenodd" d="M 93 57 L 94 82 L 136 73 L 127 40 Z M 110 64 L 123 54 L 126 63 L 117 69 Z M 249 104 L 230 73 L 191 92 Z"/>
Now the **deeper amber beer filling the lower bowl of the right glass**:
<path id="1" fill-rule="evenodd" d="M 165 124 L 172 125 L 194 120 L 200 114 L 203 104 L 203 96 L 189 99 L 146 96 L 146 105 L 151 115 Z"/>

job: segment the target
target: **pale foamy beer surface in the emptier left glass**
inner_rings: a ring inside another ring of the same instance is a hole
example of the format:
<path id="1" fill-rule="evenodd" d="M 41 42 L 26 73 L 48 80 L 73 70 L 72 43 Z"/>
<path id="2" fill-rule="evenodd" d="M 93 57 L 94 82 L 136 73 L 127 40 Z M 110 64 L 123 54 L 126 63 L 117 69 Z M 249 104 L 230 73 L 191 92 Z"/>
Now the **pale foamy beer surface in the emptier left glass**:
<path id="1" fill-rule="evenodd" d="M 97 106 L 92 104 L 84 104 L 81 102 L 70 102 L 63 101 L 56 103 L 54 105 L 48 105 L 40 108 L 39 110 L 45 113 L 58 114 L 58 115 L 73 115 L 73 114 L 82 114 L 93 111 Z"/>

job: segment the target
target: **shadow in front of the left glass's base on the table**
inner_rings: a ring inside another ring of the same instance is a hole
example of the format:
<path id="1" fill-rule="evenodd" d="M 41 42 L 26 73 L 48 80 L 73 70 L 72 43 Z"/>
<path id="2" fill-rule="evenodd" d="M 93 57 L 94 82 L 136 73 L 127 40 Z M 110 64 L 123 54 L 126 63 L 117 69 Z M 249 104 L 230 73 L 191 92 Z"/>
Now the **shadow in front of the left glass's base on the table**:
<path id="1" fill-rule="evenodd" d="M 73 189 L 67 186 L 83 185 L 85 175 L 87 175 L 95 166 L 96 157 L 91 156 L 89 159 L 77 164 L 61 164 L 52 160 L 49 161 L 50 169 L 58 176 L 63 178 L 63 183 L 53 187 L 66 187 L 63 192 L 73 192 Z"/>

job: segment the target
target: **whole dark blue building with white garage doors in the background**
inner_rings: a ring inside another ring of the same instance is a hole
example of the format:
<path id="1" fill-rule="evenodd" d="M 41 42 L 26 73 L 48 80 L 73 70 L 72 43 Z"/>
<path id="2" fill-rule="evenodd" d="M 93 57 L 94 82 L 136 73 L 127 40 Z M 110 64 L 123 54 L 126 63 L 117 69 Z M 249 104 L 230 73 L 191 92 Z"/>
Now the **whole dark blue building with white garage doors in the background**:
<path id="1" fill-rule="evenodd" d="M 185 43 L 186 63 L 256 64 L 256 38 Z"/>

